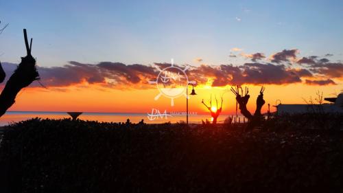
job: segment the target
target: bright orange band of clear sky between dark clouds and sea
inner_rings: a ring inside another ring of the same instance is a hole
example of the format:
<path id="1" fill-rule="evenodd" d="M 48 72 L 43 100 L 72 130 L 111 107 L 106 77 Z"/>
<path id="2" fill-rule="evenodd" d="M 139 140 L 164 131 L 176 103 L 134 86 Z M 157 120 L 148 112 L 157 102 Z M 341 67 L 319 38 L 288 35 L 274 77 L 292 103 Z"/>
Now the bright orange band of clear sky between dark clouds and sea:
<path id="1" fill-rule="evenodd" d="M 265 85 L 265 105 L 263 112 L 267 109 L 267 104 L 274 105 L 276 100 L 281 100 L 283 104 L 304 103 L 303 98 L 316 97 L 317 91 L 322 91 L 324 97 L 333 97 L 333 93 L 340 93 L 343 89 L 342 82 L 337 85 L 311 86 L 306 84 L 287 85 Z M 250 89 L 250 100 L 248 109 L 255 111 L 255 101 L 260 87 L 248 86 Z M 191 90 L 191 89 L 189 89 Z M 235 96 L 228 91 L 228 87 L 196 87 L 198 95 L 189 99 L 189 111 L 197 113 L 206 112 L 206 108 L 201 104 L 202 99 L 209 100 L 212 93 L 220 99 L 224 93 L 224 104 L 222 113 L 235 113 Z M 154 97 L 158 94 L 158 89 L 130 89 L 123 91 L 119 89 L 104 89 L 95 85 L 83 87 L 64 87 L 59 90 L 54 88 L 26 88 L 19 93 L 16 103 L 9 111 L 83 111 L 83 112 L 138 112 L 148 113 L 152 108 L 160 111 L 186 111 L 186 98 L 184 96 L 174 100 L 175 106 L 170 106 L 170 99 L 161 96 L 157 101 Z M 214 104 L 214 103 L 213 103 Z M 274 108 L 271 109 L 274 111 Z"/>

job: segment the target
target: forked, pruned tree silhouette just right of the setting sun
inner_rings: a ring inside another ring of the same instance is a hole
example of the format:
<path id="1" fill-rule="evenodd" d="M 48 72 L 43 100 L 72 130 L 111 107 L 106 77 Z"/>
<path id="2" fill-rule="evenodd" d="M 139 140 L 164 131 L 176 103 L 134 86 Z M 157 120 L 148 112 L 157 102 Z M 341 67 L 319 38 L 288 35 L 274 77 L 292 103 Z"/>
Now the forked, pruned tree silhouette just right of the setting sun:
<path id="1" fill-rule="evenodd" d="M 241 93 L 239 93 L 239 90 L 241 90 Z M 231 87 L 231 91 L 236 95 L 236 100 L 239 104 L 239 110 L 241 110 L 241 114 L 244 115 L 248 119 L 248 129 L 252 129 L 255 126 L 258 126 L 261 124 L 262 120 L 262 114 L 261 114 L 261 109 L 263 104 L 265 104 L 265 101 L 263 100 L 263 91 L 265 90 L 265 87 L 261 87 L 261 90 L 259 92 L 259 96 L 257 97 L 256 100 L 256 111 L 254 115 L 248 111 L 246 108 L 246 104 L 248 104 L 248 100 L 250 98 L 249 95 L 249 89 L 246 87 L 245 92 L 241 87 Z"/>

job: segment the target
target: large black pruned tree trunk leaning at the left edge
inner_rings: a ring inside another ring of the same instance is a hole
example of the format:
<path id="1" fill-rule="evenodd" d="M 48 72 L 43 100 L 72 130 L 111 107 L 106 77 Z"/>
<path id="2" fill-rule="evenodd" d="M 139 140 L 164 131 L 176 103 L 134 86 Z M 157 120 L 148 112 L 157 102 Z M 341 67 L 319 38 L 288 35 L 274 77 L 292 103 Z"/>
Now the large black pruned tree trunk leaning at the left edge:
<path id="1" fill-rule="evenodd" d="M 26 30 L 24 29 L 24 40 L 27 56 L 21 57 L 18 65 L 10 79 L 5 84 L 5 88 L 0 94 L 0 117 L 14 104 L 16 95 L 21 89 L 29 86 L 34 80 L 38 80 L 39 74 L 36 70 L 36 60 L 31 55 L 32 38 L 30 44 L 27 41 Z M 5 71 L 0 63 L 0 83 L 5 80 Z"/>

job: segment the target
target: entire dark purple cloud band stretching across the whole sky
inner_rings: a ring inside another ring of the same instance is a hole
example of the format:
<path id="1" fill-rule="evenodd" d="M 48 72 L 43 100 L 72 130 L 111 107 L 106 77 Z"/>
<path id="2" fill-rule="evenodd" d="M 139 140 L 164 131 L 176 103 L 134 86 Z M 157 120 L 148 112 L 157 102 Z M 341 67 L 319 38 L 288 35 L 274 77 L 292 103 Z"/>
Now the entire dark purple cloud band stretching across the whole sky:
<path id="1" fill-rule="evenodd" d="M 241 50 L 234 48 L 235 50 Z M 297 49 L 283 50 L 273 55 L 277 63 L 257 62 L 265 58 L 264 54 L 246 54 L 252 63 L 243 65 L 200 65 L 189 66 L 186 71 L 189 80 L 196 80 L 198 84 L 211 84 L 213 87 L 241 84 L 335 84 L 335 78 L 343 78 L 343 63 L 331 63 L 327 58 L 307 56 L 296 63 L 300 67 L 279 64 L 296 58 Z M 230 53 L 230 57 L 236 55 Z M 201 61 L 201 58 L 197 58 Z M 40 82 L 51 89 L 63 89 L 69 86 L 87 87 L 97 84 L 100 87 L 114 89 L 147 89 L 154 88 L 148 84 L 156 80 L 159 70 L 170 67 L 170 63 L 154 63 L 154 65 L 102 62 L 97 64 L 78 63 L 71 61 L 60 67 L 37 67 Z M 185 69 L 185 65 L 176 65 Z M 16 69 L 16 64 L 3 63 L 8 80 Z M 332 80 L 333 79 L 333 80 Z M 331 81 L 330 81 L 331 80 Z M 3 83 L 4 84 L 4 83 Z M 30 87 L 40 87 L 34 82 Z"/>

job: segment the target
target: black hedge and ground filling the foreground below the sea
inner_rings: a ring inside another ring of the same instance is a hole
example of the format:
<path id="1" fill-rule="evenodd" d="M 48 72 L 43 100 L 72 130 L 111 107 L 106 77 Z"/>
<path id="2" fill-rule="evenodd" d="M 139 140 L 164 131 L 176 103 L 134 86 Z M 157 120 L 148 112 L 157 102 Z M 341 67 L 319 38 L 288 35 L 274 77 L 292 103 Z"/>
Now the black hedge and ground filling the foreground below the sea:
<path id="1" fill-rule="evenodd" d="M 343 192 L 343 135 L 29 120 L 5 128 L 0 192 Z"/>

